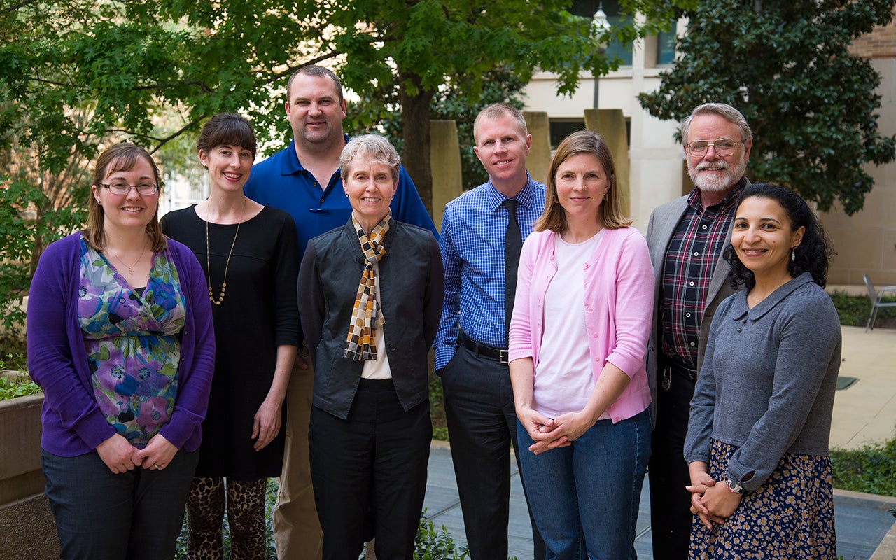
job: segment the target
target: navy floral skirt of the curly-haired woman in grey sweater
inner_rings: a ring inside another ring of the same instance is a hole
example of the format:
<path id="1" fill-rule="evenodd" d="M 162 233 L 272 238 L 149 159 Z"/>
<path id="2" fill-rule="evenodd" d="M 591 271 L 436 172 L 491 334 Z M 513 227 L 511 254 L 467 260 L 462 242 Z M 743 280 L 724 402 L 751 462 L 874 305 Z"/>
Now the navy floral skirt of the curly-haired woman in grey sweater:
<path id="1" fill-rule="evenodd" d="M 737 446 L 712 440 L 710 474 L 725 479 Z M 691 560 L 836 560 L 831 458 L 787 453 L 771 477 L 744 496 L 728 521 L 708 530 L 694 515 Z"/>

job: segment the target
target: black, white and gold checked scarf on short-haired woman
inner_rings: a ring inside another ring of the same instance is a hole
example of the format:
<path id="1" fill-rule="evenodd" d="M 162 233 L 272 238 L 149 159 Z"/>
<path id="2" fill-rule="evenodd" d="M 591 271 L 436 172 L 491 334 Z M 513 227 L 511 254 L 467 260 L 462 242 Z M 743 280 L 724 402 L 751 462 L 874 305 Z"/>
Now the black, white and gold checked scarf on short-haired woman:
<path id="1" fill-rule="evenodd" d="M 376 224 L 370 237 L 364 233 L 364 228 L 351 216 L 351 223 L 355 225 L 358 233 L 358 241 L 364 251 L 364 272 L 361 273 L 361 282 L 358 284 L 358 296 L 355 297 L 355 307 L 351 312 L 351 324 L 349 324 L 349 336 L 345 342 L 345 358 L 354 360 L 376 359 L 376 327 L 385 323 L 380 306 L 376 302 L 376 268 L 386 254 L 386 248 L 380 245 L 383 237 L 389 231 L 389 220 L 392 211 Z"/>

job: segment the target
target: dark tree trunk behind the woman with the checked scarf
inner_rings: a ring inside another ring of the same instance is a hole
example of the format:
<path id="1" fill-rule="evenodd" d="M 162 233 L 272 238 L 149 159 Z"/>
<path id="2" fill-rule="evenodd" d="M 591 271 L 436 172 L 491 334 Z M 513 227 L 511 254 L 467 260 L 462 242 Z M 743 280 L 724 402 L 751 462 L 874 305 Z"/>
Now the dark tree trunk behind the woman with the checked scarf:
<path id="1" fill-rule="evenodd" d="M 410 178 L 414 180 L 414 185 L 417 185 L 426 211 L 432 216 L 433 172 L 429 167 L 429 104 L 434 92 L 423 90 L 420 87 L 420 77 L 416 74 L 404 74 L 402 78 L 413 82 L 417 94 L 410 95 L 407 86 L 401 85 L 401 136 L 404 138 L 401 161 L 408 169 Z"/>

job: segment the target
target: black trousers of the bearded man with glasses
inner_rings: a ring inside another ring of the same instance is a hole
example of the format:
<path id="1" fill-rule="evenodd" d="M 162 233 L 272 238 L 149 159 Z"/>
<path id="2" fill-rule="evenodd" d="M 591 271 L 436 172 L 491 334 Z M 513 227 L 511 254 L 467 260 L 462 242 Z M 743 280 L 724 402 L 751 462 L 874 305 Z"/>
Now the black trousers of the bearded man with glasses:
<path id="1" fill-rule="evenodd" d="M 659 362 L 662 365 L 662 361 Z M 662 368 L 659 382 L 662 381 Z M 657 425 L 647 473 L 654 560 L 686 560 L 691 541 L 691 475 L 685 462 L 685 435 L 696 382 L 673 371 L 668 390 L 657 395 Z"/>

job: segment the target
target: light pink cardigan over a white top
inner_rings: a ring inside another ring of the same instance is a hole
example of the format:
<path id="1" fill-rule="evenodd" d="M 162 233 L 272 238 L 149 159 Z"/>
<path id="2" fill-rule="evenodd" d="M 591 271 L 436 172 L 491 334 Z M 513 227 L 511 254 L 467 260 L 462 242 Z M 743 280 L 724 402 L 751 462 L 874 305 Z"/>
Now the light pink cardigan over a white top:
<path id="1" fill-rule="evenodd" d="M 510 360 L 532 358 L 544 331 L 544 297 L 557 270 L 553 231 L 526 238 L 520 255 L 516 303 L 510 325 Z M 584 266 L 585 328 L 594 379 L 608 361 L 632 381 L 600 416 L 632 418 L 650 405 L 645 357 L 653 314 L 653 267 L 647 242 L 635 228 L 605 229 L 598 250 Z"/>

